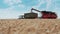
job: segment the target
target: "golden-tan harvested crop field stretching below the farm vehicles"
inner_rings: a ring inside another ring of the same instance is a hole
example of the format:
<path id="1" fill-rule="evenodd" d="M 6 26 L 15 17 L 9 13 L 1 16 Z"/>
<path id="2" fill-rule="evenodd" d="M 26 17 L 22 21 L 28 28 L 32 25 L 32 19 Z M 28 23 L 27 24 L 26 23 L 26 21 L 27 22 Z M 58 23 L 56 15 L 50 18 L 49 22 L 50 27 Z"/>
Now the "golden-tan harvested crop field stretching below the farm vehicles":
<path id="1" fill-rule="evenodd" d="M 60 34 L 60 19 L 1 19 L 0 34 Z"/>

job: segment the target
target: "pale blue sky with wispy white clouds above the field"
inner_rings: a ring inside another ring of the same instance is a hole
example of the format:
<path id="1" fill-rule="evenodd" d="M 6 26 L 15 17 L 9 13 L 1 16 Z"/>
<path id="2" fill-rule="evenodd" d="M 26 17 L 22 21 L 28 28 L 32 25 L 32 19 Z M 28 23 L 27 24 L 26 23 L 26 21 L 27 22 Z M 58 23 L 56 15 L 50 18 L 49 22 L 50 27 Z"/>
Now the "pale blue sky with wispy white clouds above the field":
<path id="1" fill-rule="evenodd" d="M 0 19 L 17 19 L 31 8 L 55 12 L 60 18 L 60 0 L 0 0 Z"/>

